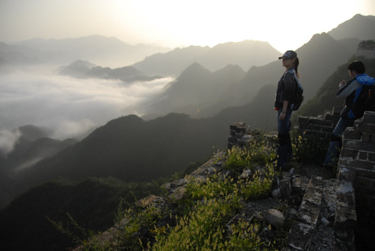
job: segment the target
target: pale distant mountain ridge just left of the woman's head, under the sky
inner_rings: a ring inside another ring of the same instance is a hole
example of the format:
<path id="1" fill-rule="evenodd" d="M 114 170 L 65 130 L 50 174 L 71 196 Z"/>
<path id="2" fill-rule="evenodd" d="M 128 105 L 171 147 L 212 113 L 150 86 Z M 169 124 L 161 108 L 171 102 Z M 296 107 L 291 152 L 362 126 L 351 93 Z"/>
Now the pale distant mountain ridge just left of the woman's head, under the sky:
<path id="1" fill-rule="evenodd" d="M 261 66 L 280 55 L 269 43 L 245 40 L 238 43 L 223 43 L 210 47 L 190 46 L 171 52 L 148 56 L 133 66 L 145 73 L 157 75 L 181 75 L 192 63 L 199 63 L 211 72 L 232 64 L 243 70 Z"/>

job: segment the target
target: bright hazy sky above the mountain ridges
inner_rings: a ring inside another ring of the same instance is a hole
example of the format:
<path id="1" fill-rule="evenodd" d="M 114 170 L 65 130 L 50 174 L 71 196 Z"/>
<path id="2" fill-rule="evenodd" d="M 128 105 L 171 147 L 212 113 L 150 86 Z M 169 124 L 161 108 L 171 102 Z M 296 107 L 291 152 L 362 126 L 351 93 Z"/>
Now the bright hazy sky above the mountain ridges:
<path id="1" fill-rule="evenodd" d="M 296 50 L 374 0 L 0 0 L 0 41 L 99 34 L 132 45 L 214 46 L 246 39 Z"/>

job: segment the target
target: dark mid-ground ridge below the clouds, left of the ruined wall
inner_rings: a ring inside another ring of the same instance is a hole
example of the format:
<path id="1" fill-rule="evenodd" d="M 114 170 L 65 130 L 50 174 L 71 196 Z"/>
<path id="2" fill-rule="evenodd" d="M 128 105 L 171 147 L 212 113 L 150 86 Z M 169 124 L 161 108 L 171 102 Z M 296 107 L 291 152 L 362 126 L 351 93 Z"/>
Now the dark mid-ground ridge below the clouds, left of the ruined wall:
<path id="1" fill-rule="evenodd" d="M 123 181 L 151 181 L 181 172 L 194 160 L 225 146 L 225 134 L 210 120 L 169 114 L 151 121 L 130 115 L 109 121 L 81 142 L 25 169 L 21 186 L 58 176 L 79 180 L 115 176 Z M 220 130 L 220 133 L 218 133 Z M 227 130 L 225 130 L 227 131 Z"/>

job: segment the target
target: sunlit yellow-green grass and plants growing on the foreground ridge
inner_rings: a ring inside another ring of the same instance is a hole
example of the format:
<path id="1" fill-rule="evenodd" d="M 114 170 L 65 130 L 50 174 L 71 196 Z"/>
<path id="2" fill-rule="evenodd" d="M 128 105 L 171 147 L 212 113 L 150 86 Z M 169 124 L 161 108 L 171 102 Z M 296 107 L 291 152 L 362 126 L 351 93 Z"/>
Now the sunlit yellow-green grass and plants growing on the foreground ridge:
<path id="1" fill-rule="evenodd" d="M 227 225 L 246 201 L 270 195 L 273 151 L 263 140 L 243 149 L 234 147 L 220 160 L 224 162 L 221 174 L 206 181 L 186 177 L 183 199 L 164 198 L 158 206 L 130 208 L 112 238 L 91 236 L 82 241 L 81 250 L 277 250 L 275 243 L 280 241 L 259 237 L 260 222 L 239 218 Z M 245 168 L 253 174 L 240 178 Z"/>

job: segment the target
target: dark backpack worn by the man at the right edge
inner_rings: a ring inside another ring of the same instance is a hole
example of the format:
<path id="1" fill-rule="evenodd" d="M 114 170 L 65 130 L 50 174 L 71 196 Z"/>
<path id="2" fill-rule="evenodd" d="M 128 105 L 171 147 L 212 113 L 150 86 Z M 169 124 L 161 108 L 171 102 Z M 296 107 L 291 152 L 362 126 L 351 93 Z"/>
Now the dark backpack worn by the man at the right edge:
<path id="1" fill-rule="evenodd" d="M 365 111 L 375 112 L 375 85 L 362 85 L 355 91 L 351 111 L 357 119 L 362 118 Z"/>

